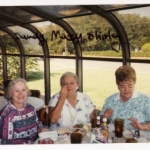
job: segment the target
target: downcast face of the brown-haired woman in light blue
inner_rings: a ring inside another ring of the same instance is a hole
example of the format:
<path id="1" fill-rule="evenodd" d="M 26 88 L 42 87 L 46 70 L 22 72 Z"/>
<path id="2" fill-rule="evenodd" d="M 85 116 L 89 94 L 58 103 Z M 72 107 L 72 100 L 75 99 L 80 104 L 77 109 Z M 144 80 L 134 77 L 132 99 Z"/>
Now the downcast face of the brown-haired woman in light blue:
<path id="1" fill-rule="evenodd" d="M 135 83 L 132 80 L 126 80 L 118 84 L 121 100 L 127 101 L 129 98 L 132 97 L 132 94 L 134 92 L 134 86 Z"/>

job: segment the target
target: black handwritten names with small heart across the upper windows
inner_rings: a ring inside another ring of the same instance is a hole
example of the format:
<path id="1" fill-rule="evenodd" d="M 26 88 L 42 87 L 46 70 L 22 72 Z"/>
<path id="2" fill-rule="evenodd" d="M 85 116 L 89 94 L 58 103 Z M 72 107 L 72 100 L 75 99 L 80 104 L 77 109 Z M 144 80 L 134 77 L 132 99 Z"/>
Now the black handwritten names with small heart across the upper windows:
<path id="1" fill-rule="evenodd" d="M 47 42 L 47 38 L 44 37 L 43 34 L 41 33 L 36 33 L 35 35 L 21 35 L 19 33 L 15 33 L 16 35 L 16 39 L 39 39 L 39 45 L 43 45 L 45 42 Z M 119 36 L 117 34 L 115 34 L 114 32 L 111 33 L 110 30 L 108 30 L 107 33 L 102 34 L 101 31 L 95 31 L 94 33 L 92 32 L 88 32 L 85 36 L 83 36 L 81 33 L 75 33 L 75 34 L 65 34 L 65 33 L 60 33 L 60 31 L 52 31 L 52 33 L 50 34 L 50 40 L 53 41 L 57 38 L 60 38 L 62 40 L 67 40 L 67 41 L 75 41 L 76 44 L 85 44 L 88 41 L 92 41 L 94 39 L 96 40 L 101 40 L 101 41 L 105 41 L 105 40 L 109 40 L 110 42 L 110 47 L 112 50 L 119 52 L 118 49 L 114 48 L 114 45 L 118 44 L 120 47 L 120 44 L 118 42 L 112 42 L 113 39 L 118 39 Z"/>

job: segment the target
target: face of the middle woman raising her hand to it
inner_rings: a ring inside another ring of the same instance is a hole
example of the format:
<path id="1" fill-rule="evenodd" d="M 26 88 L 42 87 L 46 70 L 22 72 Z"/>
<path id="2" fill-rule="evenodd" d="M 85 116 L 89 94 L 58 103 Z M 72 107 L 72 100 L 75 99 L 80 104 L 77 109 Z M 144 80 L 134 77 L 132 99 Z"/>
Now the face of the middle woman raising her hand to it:
<path id="1" fill-rule="evenodd" d="M 74 77 L 66 76 L 63 81 L 63 86 L 66 86 L 69 92 L 76 92 L 78 83 Z"/>

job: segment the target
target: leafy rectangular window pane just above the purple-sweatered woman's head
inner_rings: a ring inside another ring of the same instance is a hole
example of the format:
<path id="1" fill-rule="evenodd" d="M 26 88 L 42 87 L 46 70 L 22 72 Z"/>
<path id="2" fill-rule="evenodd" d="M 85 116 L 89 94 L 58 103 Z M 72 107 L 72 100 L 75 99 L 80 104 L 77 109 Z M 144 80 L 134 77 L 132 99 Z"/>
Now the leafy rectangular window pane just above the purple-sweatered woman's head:
<path id="1" fill-rule="evenodd" d="M 7 78 L 13 79 L 21 76 L 20 57 L 7 56 Z"/>

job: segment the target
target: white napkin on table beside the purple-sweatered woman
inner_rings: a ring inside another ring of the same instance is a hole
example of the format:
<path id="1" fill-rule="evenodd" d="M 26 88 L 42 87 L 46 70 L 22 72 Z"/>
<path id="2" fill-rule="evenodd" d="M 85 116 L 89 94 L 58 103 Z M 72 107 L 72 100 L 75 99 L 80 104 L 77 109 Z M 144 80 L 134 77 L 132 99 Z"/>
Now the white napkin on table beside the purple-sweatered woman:
<path id="1" fill-rule="evenodd" d="M 58 133 L 57 131 L 40 132 L 39 138 L 40 139 L 51 138 L 53 141 L 57 141 Z"/>

